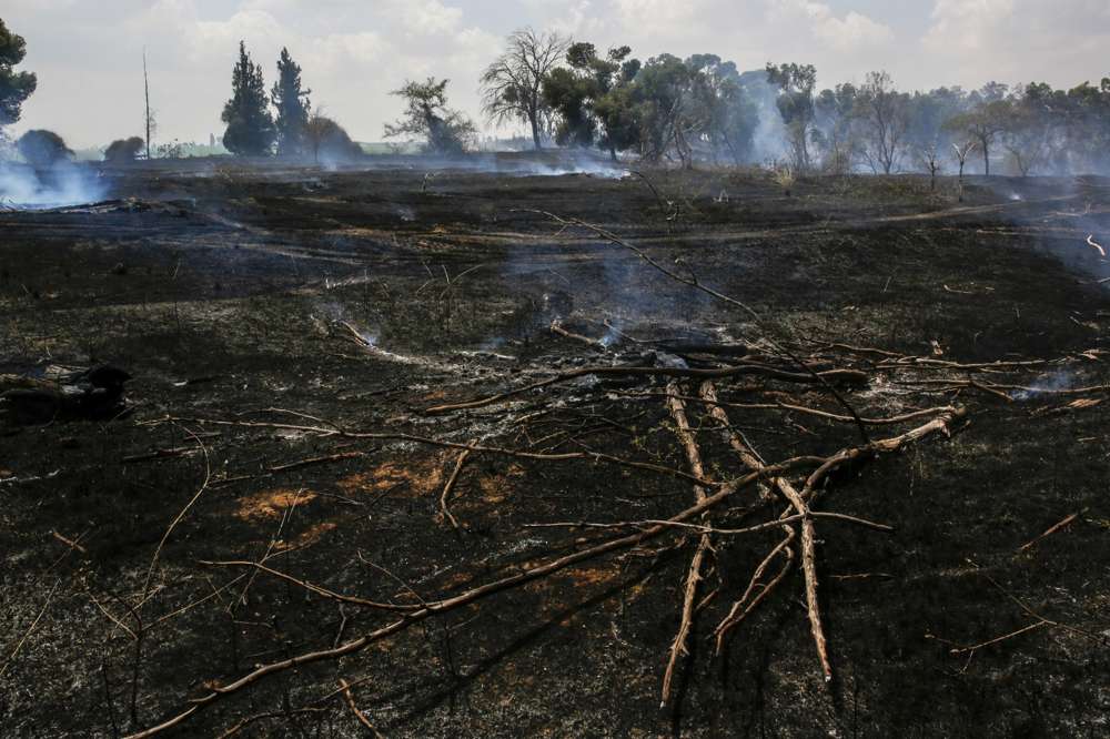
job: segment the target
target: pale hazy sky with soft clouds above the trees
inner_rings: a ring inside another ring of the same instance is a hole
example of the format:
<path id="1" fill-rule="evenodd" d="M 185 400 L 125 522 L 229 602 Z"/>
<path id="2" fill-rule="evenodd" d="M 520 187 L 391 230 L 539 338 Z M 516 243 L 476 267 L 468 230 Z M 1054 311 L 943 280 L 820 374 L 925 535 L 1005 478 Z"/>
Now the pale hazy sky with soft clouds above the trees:
<path id="1" fill-rule="evenodd" d="M 808 62 L 821 84 L 872 69 L 905 89 L 1110 75 L 1110 0 L 2 0 L 0 18 L 39 74 L 16 131 L 51 128 L 73 146 L 140 133 L 144 45 L 158 138 L 220 134 L 240 39 L 268 84 L 287 45 L 313 103 L 361 141 L 381 140 L 406 77 L 450 78 L 477 118 L 478 74 L 523 26 L 642 59 Z"/>

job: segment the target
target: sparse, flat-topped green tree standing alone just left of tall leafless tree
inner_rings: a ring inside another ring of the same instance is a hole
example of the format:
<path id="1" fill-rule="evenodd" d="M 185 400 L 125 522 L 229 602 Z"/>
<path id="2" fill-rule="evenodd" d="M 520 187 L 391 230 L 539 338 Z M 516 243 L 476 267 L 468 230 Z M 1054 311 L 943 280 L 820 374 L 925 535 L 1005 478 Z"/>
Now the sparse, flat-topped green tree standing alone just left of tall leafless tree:
<path id="1" fill-rule="evenodd" d="M 435 154 L 461 154 L 473 145 L 474 123 L 457 110 L 447 108 L 447 83 L 434 77 L 424 82 L 405 81 L 390 94 L 405 100 L 405 113 L 395 123 L 385 124 L 385 138 L 413 136 L 424 140 L 424 149 Z"/>

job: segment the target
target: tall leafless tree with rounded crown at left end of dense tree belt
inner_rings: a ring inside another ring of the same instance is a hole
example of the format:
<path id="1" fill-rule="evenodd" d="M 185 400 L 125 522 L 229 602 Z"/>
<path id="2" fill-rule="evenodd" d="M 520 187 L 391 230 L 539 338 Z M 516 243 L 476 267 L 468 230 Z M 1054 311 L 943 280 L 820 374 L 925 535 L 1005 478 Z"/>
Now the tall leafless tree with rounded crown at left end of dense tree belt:
<path id="1" fill-rule="evenodd" d="M 483 109 L 490 120 L 527 123 L 536 149 L 543 149 L 549 120 L 543 97 L 544 80 L 558 65 L 569 44 L 569 39 L 557 33 L 537 34 L 531 28 L 508 37 L 508 48 L 482 74 Z"/>

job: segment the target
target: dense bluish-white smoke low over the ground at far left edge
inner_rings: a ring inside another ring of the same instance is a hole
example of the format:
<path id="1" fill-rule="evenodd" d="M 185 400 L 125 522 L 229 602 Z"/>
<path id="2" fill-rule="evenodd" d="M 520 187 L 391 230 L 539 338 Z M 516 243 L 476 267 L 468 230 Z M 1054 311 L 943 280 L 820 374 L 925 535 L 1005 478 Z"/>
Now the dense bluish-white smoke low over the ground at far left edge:
<path id="1" fill-rule="evenodd" d="M 81 205 L 104 199 L 107 188 L 87 169 L 60 162 L 37 172 L 24 164 L 0 160 L 0 207 L 42 210 Z"/>

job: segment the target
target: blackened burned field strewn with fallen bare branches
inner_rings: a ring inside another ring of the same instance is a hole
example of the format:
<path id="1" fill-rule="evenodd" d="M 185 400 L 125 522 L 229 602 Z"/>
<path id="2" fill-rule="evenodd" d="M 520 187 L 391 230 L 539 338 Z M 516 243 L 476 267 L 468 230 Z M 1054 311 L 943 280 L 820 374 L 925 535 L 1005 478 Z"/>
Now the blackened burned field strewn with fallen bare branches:
<path id="1" fill-rule="evenodd" d="M 1110 183 L 181 166 L 0 212 L 3 736 L 1106 732 Z"/>

